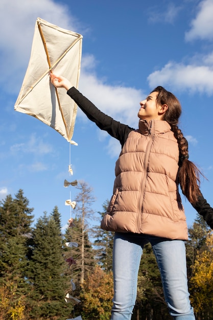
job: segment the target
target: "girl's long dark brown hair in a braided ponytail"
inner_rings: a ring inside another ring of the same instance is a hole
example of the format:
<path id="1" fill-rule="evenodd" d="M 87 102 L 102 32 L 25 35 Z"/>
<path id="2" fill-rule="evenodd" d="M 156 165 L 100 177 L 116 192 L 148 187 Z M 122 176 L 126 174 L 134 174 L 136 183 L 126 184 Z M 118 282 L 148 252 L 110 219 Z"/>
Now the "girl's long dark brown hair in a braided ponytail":
<path id="1" fill-rule="evenodd" d="M 202 175 L 202 173 L 193 162 L 188 160 L 188 142 L 184 138 L 182 131 L 178 128 L 178 121 L 181 115 L 180 102 L 171 92 L 161 86 L 156 87 L 152 92 L 158 93 L 156 103 L 168 105 L 168 109 L 165 111 L 162 120 L 165 120 L 170 124 L 178 142 L 178 181 L 182 193 L 191 203 L 195 204 L 198 200 L 198 196 L 201 194 L 200 175 Z"/>

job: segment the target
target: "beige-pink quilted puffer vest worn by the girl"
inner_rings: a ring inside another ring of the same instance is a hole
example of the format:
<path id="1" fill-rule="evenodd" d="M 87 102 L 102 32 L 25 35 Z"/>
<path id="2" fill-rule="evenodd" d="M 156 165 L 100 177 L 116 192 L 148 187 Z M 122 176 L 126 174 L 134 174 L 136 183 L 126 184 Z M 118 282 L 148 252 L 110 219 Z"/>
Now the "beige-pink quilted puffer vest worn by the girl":
<path id="1" fill-rule="evenodd" d="M 113 196 L 104 230 L 186 240 L 187 225 L 177 187 L 179 150 L 166 121 L 139 121 L 115 165 Z"/>

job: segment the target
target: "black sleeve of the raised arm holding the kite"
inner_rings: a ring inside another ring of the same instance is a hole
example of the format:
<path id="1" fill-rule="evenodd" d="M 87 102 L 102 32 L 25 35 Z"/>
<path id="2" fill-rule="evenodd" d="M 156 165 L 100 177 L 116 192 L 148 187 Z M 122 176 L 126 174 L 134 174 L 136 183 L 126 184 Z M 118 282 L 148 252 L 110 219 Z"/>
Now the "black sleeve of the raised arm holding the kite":
<path id="1" fill-rule="evenodd" d="M 122 147 L 130 131 L 134 130 L 129 126 L 115 121 L 111 117 L 100 111 L 91 101 L 84 97 L 75 87 L 67 91 L 67 95 L 72 98 L 87 118 L 101 129 L 107 131 L 113 138 L 120 141 Z"/>

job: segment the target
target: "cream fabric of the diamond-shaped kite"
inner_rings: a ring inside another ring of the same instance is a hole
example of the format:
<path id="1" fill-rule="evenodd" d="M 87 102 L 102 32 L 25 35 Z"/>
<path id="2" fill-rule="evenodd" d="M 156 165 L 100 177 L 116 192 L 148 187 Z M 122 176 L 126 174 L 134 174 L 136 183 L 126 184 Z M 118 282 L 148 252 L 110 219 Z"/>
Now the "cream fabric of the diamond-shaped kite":
<path id="1" fill-rule="evenodd" d="M 50 72 L 63 75 L 78 87 L 81 34 L 37 18 L 31 57 L 14 109 L 37 118 L 72 143 L 77 105 L 64 88 L 55 88 Z"/>

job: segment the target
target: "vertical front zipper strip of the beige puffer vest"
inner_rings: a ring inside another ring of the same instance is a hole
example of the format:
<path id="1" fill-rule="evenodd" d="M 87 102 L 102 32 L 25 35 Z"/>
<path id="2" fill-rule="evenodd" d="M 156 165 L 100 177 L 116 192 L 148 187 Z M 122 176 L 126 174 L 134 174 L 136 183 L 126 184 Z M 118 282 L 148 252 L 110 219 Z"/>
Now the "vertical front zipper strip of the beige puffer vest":
<path id="1" fill-rule="evenodd" d="M 142 204 L 144 201 L 144 192 L 145 192 L 145 185 L 146 185 L 146 180 L 147 180 L 147 167 L 148 167 L 148 160 L 149 160 L 149 155 L 150 155 L 150 149 L 152 146 L 153 138 L 154 138 L 154 122 L 151 120 L 150 122 L 150 127 L 149 127 L 149 142 L 147 144 L 147 148 L 145 151 L 145 157 L 144 157 L 144 175 L 141 178 L 140 181 L 140 194 L 139 194 L 139 200 L 138 200 L 138 208 L 137 208 L 137 223 L 136 225 L 137 230 L 135 233 L 140 233 L 140 225 L 141 225 L 141 215 L 142 215 Z"/>

